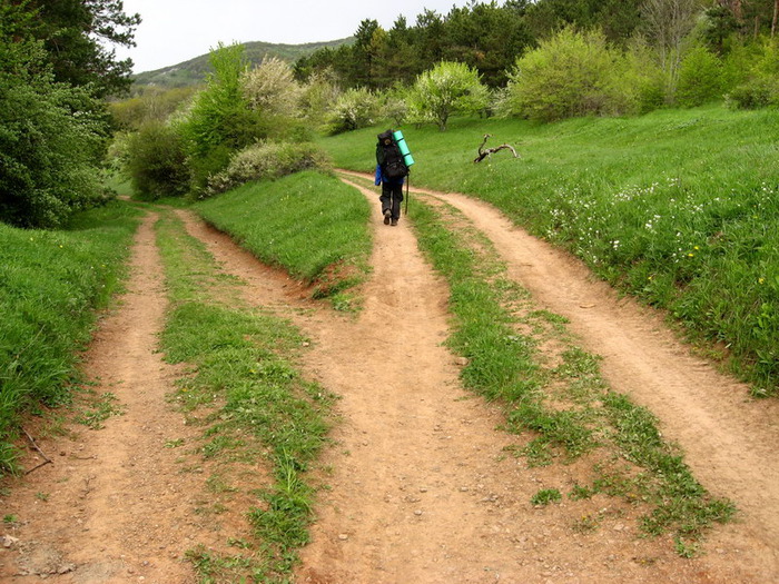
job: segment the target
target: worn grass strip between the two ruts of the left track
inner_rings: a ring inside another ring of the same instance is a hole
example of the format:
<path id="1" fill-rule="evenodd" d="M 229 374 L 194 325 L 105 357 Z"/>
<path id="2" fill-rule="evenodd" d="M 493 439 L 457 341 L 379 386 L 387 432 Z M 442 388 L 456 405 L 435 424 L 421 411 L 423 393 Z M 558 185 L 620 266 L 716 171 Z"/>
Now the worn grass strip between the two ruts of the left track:
<path id="1" fill-rule="evenodd" d="M 334 396 L 298 372 L 299 331 L 247 306 L 239 283 L 179 220 L 158 222 L 158 242 L 172 303 L 162 348 L 167 360 L 189 367 L 176 400 L 204 427 L 199 453 L 223 465 L 264 461 L 273 476 L 252 486 L 262 487 L 247 513 L 255 542 L 233 555 L 195 548 L 188 557 L 204 582 L 284 582 L 308 541 L 314 487 L 306 471 L 326 439 Z M 209 488 L 217 483 L 225 484 L 219 477 Z"/>

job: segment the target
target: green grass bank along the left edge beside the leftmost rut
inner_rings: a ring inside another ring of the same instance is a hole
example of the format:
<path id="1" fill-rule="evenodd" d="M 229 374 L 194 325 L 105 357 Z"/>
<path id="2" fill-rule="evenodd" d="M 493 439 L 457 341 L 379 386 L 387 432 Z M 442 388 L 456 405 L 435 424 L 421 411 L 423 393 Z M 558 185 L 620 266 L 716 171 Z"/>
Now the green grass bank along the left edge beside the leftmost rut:
<path id="1" fill-rule="evenodd" d="M 120 287 L 138 216 L 115 202 L 65 230 L 0 224 L 0 473 L 18 471 L 21 416 L 70 400 L 78 350 Z"/>

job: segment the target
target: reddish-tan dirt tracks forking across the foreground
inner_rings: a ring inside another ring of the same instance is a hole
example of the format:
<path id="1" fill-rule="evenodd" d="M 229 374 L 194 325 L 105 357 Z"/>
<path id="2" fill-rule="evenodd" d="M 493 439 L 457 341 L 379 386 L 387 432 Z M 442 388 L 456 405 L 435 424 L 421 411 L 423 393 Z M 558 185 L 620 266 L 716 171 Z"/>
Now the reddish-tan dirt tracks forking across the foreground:
<path id="1" fill-rule="evenodd" d="M 297 283 L 179 211 L 223 268 L 248 284 L 248 301 L 284 313 L 312 339 L 306 375 L 341 396 L 322 461 L 327 488 L 317 495 L 297 582 L 779 582 L 776 400 L 750 399 L 660 315 L 620 298 L 490 206 L 412 190 L 473 221 L 539 307 L 565 316 L 582 346 L 602 356 L 610 385 L 649 407 L 706 488 L 739 511 L 713 527 L 698 556 L 683 558 L 670 536 L 641 537 L 637 511 L 615 499 L 534 507 L 539 489 L 565 493 L 586 471 L 529 468 L 511 454 L 527 438 L 501 430 L 499 408 L 463 389 L 462 364 L 443 345 L 444 283 L 405 218 L 384 226 L 376 192 L 352 184 L 374 204 L 375 226 L 357 317 L 310 303 Z M 93 392 L 116 396 L 124 415 L 96 430 L 63 423 L 55 433 L 30 422 L 26 429 L 52 464 L 4 485 L 1 514 L 18 521 L 0 527 L 0 582 L 196 582 L 187 551 L 221 550 L 248 529 L 240 509 L 263 469 L 247 465 L 238 493 L 215 495 L 200 457 L 174 447 L 196 442 L 198 429 L 168 399 L 183 372 L 157 353 L 167 305 L 155 220 L 149 215 L 138 231 L 127 293 L 85 356 Z M 30 447 L 24 466 L 40 462 Z M 223 496 L 229 511 L 204 512 Z M 582 528 L 578 518 L 596 525 Z"/>

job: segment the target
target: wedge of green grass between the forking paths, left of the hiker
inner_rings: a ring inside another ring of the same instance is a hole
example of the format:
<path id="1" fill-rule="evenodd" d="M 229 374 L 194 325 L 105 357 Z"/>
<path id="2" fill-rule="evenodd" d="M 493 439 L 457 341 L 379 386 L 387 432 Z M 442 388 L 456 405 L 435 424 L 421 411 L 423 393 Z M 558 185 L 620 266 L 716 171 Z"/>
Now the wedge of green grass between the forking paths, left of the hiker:
<path id="1" fill-rule="evenodd" d="M 348 304 L 365 279 L 371 235 L 365 197 L 314 171 L 253 182 L 195 205 L 257 258 L 315 287 L 317 298 Z"/>

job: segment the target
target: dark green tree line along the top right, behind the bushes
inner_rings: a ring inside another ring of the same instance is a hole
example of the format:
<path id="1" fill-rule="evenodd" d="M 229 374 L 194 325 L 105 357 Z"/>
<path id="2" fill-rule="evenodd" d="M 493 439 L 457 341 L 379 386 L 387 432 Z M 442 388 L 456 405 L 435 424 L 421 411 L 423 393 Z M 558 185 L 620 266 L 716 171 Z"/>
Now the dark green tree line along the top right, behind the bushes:
<path id="1" fill-rule="evenodd" d="M 332 71 L 344 88 L 386 90 L 410 85 L 441 61 L 463 62 L 491 88 L 504 87 L 515 60 L 564 28 L 598 29 L 610 44 L 644 39 L 664 59 L 688 36 L 724 57 L 737 46 L 777 29 L 779 0 L 472 0 L 447 14 L 425 10 L 389 30 L 363 20 L 355 41 L 300 58 L 295 76 L 306 81 Z"/>

